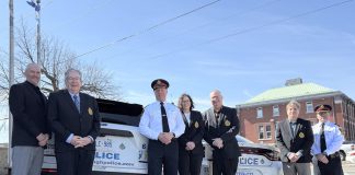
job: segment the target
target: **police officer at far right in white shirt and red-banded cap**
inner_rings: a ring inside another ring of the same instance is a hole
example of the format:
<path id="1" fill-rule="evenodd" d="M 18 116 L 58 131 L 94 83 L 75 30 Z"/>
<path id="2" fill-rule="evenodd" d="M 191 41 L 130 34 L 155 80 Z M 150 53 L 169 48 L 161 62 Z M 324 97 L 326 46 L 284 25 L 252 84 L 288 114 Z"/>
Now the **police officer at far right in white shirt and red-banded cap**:
<path id="1" fill-rule="evenodd" d="M 344 141 L 339 127 L 329 121 L 332 116 L 330 105 L 318 105 L 314 108 L 319 122 L 312 127 L 314 143 L 312 153 L 318 160 L 321 175 L 343 175 L 339 150 Z"/>

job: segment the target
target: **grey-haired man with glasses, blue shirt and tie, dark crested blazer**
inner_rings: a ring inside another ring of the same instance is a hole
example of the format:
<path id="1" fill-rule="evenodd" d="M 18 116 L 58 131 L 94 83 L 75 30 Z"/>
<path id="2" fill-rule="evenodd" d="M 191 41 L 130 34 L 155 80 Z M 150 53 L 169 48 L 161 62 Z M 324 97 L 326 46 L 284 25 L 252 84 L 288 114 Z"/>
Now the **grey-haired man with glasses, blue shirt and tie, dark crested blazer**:
<path id="1" fill-rule="evenodd" d="M 49 95 L 48 118 L 55 132 L 55 153 L 59 175 L 90 175 L 100 130 L 94 97 L 80 93 L 81 72 L 65 73 L 67 90 Z"/>

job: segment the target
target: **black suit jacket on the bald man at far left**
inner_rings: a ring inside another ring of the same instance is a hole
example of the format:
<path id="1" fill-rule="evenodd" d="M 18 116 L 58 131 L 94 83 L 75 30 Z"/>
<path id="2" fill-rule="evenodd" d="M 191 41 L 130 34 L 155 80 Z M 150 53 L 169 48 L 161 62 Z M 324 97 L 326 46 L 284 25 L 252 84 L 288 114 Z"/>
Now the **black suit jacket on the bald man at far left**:
<path id="1" fill-rule="evenodd" d="M 36 137 L 39 133 L 50 136 L 46 117 L 47 98 L 43 93 L 36 92 L 33 84 L 25 81 L 12 85 L 9 105 L 13 116 L 12 147 L 36 147 L 38 145 Z"/>

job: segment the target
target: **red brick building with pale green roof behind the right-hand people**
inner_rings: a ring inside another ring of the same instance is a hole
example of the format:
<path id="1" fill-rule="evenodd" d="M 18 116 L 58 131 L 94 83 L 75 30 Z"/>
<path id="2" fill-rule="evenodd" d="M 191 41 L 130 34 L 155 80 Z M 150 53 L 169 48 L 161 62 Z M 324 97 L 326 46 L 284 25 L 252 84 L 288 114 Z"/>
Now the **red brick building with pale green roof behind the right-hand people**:
<path id="1" fill-rule="evenodd" d="M 286 105 L 290 100 L 301 104 L 299 117 L 317 124 L 313 107 L 329 104 L 333 108 L 331 120 L 337 124 L 346 140 L 355 140 L 355 104 L 341 91 L 301 79 L 286 82 L 286 86 L 267 90 L 243 104 L 237 105 L 241 121 L 240 135 L 260 143 L 275 143 L 275 126 L 287 117 Z"/>

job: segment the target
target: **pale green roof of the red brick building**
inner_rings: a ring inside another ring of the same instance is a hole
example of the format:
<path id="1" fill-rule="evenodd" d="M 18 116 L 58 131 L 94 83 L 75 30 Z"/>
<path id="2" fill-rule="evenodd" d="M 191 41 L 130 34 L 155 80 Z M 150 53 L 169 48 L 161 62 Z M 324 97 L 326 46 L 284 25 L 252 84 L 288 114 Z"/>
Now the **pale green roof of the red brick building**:
<path id="1" fill-rule="evenodd" d="M 283 88 L 267 90 L 267 91 L 250 98 L 249 101 L 247 101 L 245 103 L 243 103 L 241 105 L 261 103 L 261 102 L 267 102 L 267 101 L 275 101 L 275 100 L 283 100 L 283 98 L 319 95 L 319 94 L 327 94 L 327 93 L 334 93 L 334 92 L 337 92 L 337 91 L 321 86 L 316 83 L 302 83 L 302 84 L 296 84 L 296 85 L 289 85 L 289 86 L 283 86 Z"/>

